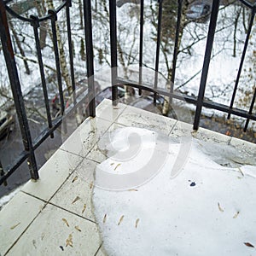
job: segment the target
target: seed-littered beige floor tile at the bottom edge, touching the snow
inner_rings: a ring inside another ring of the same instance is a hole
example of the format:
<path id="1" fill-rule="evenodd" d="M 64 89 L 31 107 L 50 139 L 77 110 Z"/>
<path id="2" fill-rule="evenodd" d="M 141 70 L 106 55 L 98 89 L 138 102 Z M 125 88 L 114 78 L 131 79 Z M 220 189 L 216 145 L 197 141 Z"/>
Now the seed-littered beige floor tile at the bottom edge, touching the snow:
<path id="1" fill-rule="evenodd" d="M 100 245 L 96 224 L 47 205 L 8 255 L 93 256 Z"/>

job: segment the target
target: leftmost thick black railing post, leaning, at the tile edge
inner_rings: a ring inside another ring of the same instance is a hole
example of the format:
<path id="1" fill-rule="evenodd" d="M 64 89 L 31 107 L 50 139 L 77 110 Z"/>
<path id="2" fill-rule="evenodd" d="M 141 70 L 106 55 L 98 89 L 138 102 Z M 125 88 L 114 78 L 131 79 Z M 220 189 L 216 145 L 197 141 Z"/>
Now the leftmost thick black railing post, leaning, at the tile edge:
<path id="1" fill-rule="evenodd" d="M 9 74 L 9 82 L 14 97 L 16 113 L 19 119 L 20 132 L 26 152 L 28 152 L 27 164 L 32 179 L 38 179 L 38 166 L 32 145 L 32 137 L 26 118 L 26 109 L 20 88 L 20 79 L 15 63 L 14 49 L 9 34 L 9 25 L 3 0 L 0 0 L 0 37 L 3 46 L 3 55 Z"/>

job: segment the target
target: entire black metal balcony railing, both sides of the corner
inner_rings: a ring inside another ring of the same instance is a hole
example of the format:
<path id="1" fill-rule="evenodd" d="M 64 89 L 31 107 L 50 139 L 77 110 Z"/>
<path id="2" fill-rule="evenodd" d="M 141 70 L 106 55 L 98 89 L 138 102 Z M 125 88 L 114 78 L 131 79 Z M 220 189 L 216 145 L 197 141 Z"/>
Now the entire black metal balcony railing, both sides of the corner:
<path id="1" fill-rule="evenodd" d="M 160 61 L 160 42 L 161 42 L 161 29 L 162 29 L 162 3 L 164 0 L 158 1 L 158 23 L 157 23 L 157 36 L 156 36 L 156 49 L 155 49 L 155 62 L 154 62 L 154 86 L 143 84 L 143 24 L 144 24 L 144 1 L 141 0 L 140 3 L 140 32 L 139 32 L 139 79 L 137 82 L 131 81 L 130 79 L 125 79 L 119 77 L 118 73 L 118 42 L 117 42 L 117 9 L 116 9 L 116 0 L 109 1 L 109 38 L 110 38 L 110 49 L 111 49 L 111 78 L 112 78 L 112 99 L 113 104 L 117 103 L 118 100 L 118 86 L 119 85 L 127 85 L 135 87 L 139 90 L 139 95 L 142 94 L 143 90 L 148 90 L 154 93 L 154 102 L 156 102 L 156 96 L 162 95 L 169 97 L 170 101 L 172 99 L 178 99 L 185 102 L 192 103 L 196 106 L 195 110 L 195 119 L 194 119 L 194 129 L 197 130 L 200 125 L 201 119 L 201 111 L 202 108 L 212 108 L 223 113 L 228 113 L 228 118 L 230 115 L 236 115 L 241 118 L 246 119 L 246 125 L 244 127 L 244 131 L 247 130 L 247 125 L 249 120 L 256 120 L 256 114 L 253 113 L 253 105 L 255 102 L 256 96 L 256 89 L 253 92 L 253 99 L 250 104 L 250 108 L 246 111 L 240 108 L 234 108 L 234 101 L 236 98 L 236 91 L 239 84 L 239 79 L 241 77 L 241 69 L 243 67 L 243 62 L 245 59 L 245 55 L 247 52 L 248 47 L 248 40 L 250 38 L 252 27 L 253 27 L 253 20 L 255 17 L 256 11 L 256 3 L 249 3 L 246 0 L 240 0 L 242 5 L 245 5 L 248 9 L 250 9 L 250 22 L 247 29 L 247 38 L 243 47 L 243 52 L 241 55 L 240 66 L 238 69 L 238 73 L 236 76 L 236 83 L 233 90 L 233 96 L 231 98 L 230 106 L 220 104 L 218 102 L 208 101 L 205 98 L 205 90 L 207 86 L 207 74 L 208 68 L 211 61 L 211 54 L 212 54 L 212 44 L 215 35 L 216 24 L 218 20 L 218 9 L 219 9 L 219 0 L 213 0 L 212 3 L 212 13 L 211 19 L 208 26 L 208 34 L 207 34 L 207 45 L 206 51 L 204 55 L 204 62 L 202 67 L 201 73 L 201 83 L 199 85 L 199 94 L 198 96 L 188 96 L 186 94 L 181 94 L 174 90 L 175 86 L 175 75 L 177 70 L 177 54 L 178 54 L 178 44 L 179 42 L 179 33 L 180 33 L 180 24 L 182 20 L 182 9 L 183 9 L 183 0 L 177 0 L 177 23 L 176 23 L 176 32 L 175 40 L 174 40 L 174 48 L 173 48 L 173 55 L 172 55 L 172 75 L 171 75 L 171 89 L 164 90 L 160 89 L 158 86 L 158 71 L 159 71 L 159 61 Z M 74 77 L 74 63 L 73 63 L 73 41 L 72 41 L 72 30 L 71 30 L 71 21 L 70 21 L 70 9 L 72 8 L 72 1 L 66 0 L 61 3 L 61 5 L 57 9 L 50 9 L 48 11 L 48 15 L 44 17 L 38 17 L 36 15 L 31 15 L 30 18 L 25 18 L 23 16 L 17 15 L 12 9 L 9 8 L 9 1 L 0 0 L 0 35 L 1 35 L 1 42 L 3 47 L 3 54 L 5 57 L 5 62 L 7 66 L 7 70 L 9 73 L 9 83 L 11 85 L 11 90 L 14 97 L 15 102 L 15 109 L 19 119 L 20 124 L 20 131 L 22 136 L 22 141 L 24 144 L 24 151 L 20 153 L 19 158 L 15 160 L 10 166 L 4 168 L 4 171 L 1 171 L 1 179 L 0 184 L 4 183 L 6 179 L 13 173 L 15 170 L 27 160 L 27 164 L 29 166 L 29 170 L 31 172 L 32 179 L 38 179 L 38 166 L 35 158 L 35 150 L 38 148 L 41 143 L 47 137 L 54 137 L 55 129 L 61 125 L 63 114 L 65 113 L 65 102 L 63 97 L 63 88 L 62 88 L 62 80 L 61 80 L 61 67 L 60 67 L 60 55 L 59 55 L 59 45 L 57 42 L 57 35 L 55 31 L 56 20 L 58 18 L 58 14 L 61 9 L 66 9 L 66 24 L 67 24 L 67 41 L 68 41 L 68 53 L 69 53 L 69 67 L 70 67 L 70 78 L 72 82 L 72 88 L 75 92 L 76 90 L 76 81 Z M 44 129 L 38 137 L 32 140 L 30 127 L 28 124 L 28 120 L 26 117 L 26 108 L 25 103 L 23 100 L 22 92 L 20 89 L 20 79 L 17 72 L 17 67 L 15 63 L 15 54 L 12 46 L 12 40 L 9 33 L 9 24 L 8 24 L 8 17 L 7 13 L 12 15 L 13 17 L 23 20 L 30 24 L 33 27 L 34 32 L 34 40 L 38 55 L 38 66 L 40 69 L 41 75 L 41 83 L 42 88 L 44 90 L 44 102 L 45 102 L 45 109 L 47 113 L 47 122 L 48 127 Z M 47 90 L 47 83 L 44 74 L 44 61 L 42 58 L 40 42 L 38 37 L 38 28 L 41 26 L 41 23 L 45 20 L 50 20 L 50 30 L 53 36 L 53 44 L 54 44 L 54 55 L 55 55 L 55 68 L 57 73 L 57 82 L 58 82 L 58 90 L 59 90 L 59 97 L 61 101 L 61 116 L 56 119 L 51 118 L 50 109 L 49 109 L 49 98 L 48 98 L 48 90 Z M 95 103 L 95 81 L 94 81 L 94 53 L 93 53 L 93 28 L 92 28 L 92 15 L 91 15 L 91 1 L 84 0 L 84 35 L 85 35 L 85 44 L 86 44 L 86 73 L 87 82 L 88 82 L 88 90 L 86 91 L 86 97 L 90 99 L 89 109 L 90 109 L 90 116 L 95 117 L 96 115 L 96 103 Z M 75 95 L 75 94 L 74 94 Z M 73 100 L 73 107 L 78 106 L 79 101 L 77 101 L 76 97 L 74 96 Z"/>

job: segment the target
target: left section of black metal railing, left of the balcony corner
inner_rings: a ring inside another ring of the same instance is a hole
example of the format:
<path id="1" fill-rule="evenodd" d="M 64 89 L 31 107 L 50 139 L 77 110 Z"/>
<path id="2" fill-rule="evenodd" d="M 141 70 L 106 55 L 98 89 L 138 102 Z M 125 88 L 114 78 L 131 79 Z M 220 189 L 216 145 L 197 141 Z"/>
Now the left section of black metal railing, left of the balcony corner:
<path id="1" fill-rule="evenodd" d="M 73 43 L 71 38 L 71 26 L 70 26 L 70 11 L 69 9 L 72 6 L 71 0 L 63 1 L 63 3 L 57 9 L 49 9 L 48 15 L 44 17 L 38 17 L 35 15 L 31 15 L 30 18 L 26 18 L 24 16 L 18 15 L 9 8 L 7 5 L 11 1 L 0 1 L 0 34 L 1 34 L 1 42 L 3 47 L 3 55 L 6 62 L 7 71 L 9 73 L 9 82 L 11 85 L 11 90 L 13 94 L 13 99 L 15 102 L 15 110 L 17 113 L 17 117 L 20 125 L 20 132 L 22 136 L 22 142 L 24 146 L 23 152 L 20 153 L 20 156 L 9 166 L 5 167 L 3 170 L 3 166 L 1 165 L 1 178 L 0 184 L 4 183 L 7 178 L 15 172 L 15 170 L 27 160 L 27 165 L 30 170 L 30 174 L 32 179 L 38 179 L 38 166 L 35 157 L 35 150 L 44 143 L 45 139 L 48 137 L 54 137 L 54 131 L 61 125 L 63 114 L 65 113 L 65 103 L 63 96 L 63 88 L 62 88 L 62 80 L 61 80 L 61 66 L 60 66 L 60 55 L 59 55 L 59 45 L 57 42 L 57 34 L 56 34 L 56 20 L 58 18 L 58 14 L 61 9 L 66 9 L 66 17 L 67 17 L 67 38 L 68 38 L 68 52 L 69 52 L 69 60 L 70 60 L 70 76 L 72 81 L 72 88 L 75 91 L 75 79 L 74 79 L 74 71 L 73 71 Z M 26 116 L 26 108 L 24 99 L 21 92 L 20 87 L 20 79 L 18 75 L 18 70 L 15 62 L 15 53 L 13 49 L 12 40 L 9 32 L 9 23 L 7 12 L 9 15 L 13 17 L 23 20 L 30 24 L 33 27 L 34 31 L 34 39 L 35 45 L 38 55 L 38 66 L 40 69 L 41 75 L 41 83 L 42 88 L 44 90 L 44 103 L 45 110 L 47 114 L 47 122 L 48 127 L 44 129 L 44 131 L 40 132 L 38 136 L 32 140 L 31 130 L 28 123 L 28 119 Z M 41 23 L 45 20 L 50 20 L 51 24 L 51 32 L 53 38 L 53 46 L 54 46 L 54 55 L 55 55 L 55 68 L 57 74 L 57 82 L 58 82 L 58 96 L 60 98 L 61 103 L 61 115 L 54 120 L 51 118 L 51 113 L 49 109 L 49 97 L 47 84 L 44 74 L 44 61 L 42 57 L 40 41 L 38 37 L 38 28 Z M 89 113 L 90 116 L 95 116 L 95 99 L 94 99 L 94 84 L 93 84 L 93 54 L 92 54 L 92 32 L 91 32 L 91 11 L 90 11 L 90 1 L 84 1 L 84 23 L 85 26 L 85 41 L 86 41 L 86 56 L 87 56 L 87 78 L 88 78 L 88 90 L 87 96 L 90 96 L 89 102 Z M 79 105 L 79 102 L 76 102 L 74 99 L 74 104 L 76 106 Z"/>

